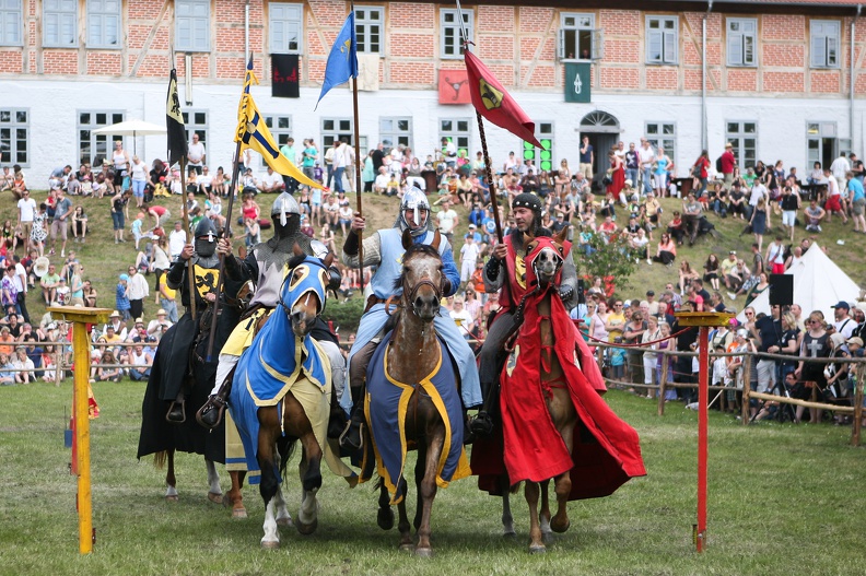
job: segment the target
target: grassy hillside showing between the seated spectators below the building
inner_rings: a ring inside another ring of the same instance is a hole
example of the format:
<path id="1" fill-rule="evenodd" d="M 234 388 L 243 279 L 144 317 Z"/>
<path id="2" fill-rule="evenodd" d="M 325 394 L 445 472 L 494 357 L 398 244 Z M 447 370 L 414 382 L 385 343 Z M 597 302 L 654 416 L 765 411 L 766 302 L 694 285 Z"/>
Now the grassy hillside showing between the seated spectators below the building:
<path id="1" fill-rule="evenodd" d="M 36 190 L 33 192 L 33 195 L 34 199 L 38 203 L 45 199 L 46 191 Z M 354 195 L 350 193 L 348 196 L 352 202 L 352 205 L 355 207 Z M 70 230 L 70 239 L 67 248 L 77 251 L 79 260 L 84 266 L 84 278 L 90 279 L 98 291 L 100 296 L 97 298 L 97 305 L 106 308 L 114 308 L 114 293 L 115 285 L 117 284 L 117 277 L 118 274 L 125 272 L 129 265 L 136 261 L 134 245 L 132 242 L 127 242 L 126 244 L 120 245 L 114 244 L 109 199 L 81 197 L 70 197 L 70 199 L 72 200 L 73 205 L 81 204 L 84 207 L 84 210 L 90 219 L 90 230 L 86 244 L 74 244 L 72 242 L 72 233 Z M 270 205 L 273 199 L 273 195 L 260 195 L 257 198 L 257 201 L 261 207 L 262 214 L 270 213 Z M 156 203 L 166 205 L 172 211 L 173 216 L 180 218 L 180 197 L 157 199 Z M 16 200 L 10 192 L 0 195 L 0 220 L 11 220 L 14 224 L 17 214 L 15 204 Z M 393 225 L 394 219 L 396 218 L 398 211 L 399 201 L 396 198 L 364 195 L 363 204 L 364 214 L 368 219 L 368 230 L 377 230 Z M 676 209 L 680 209 L 680 201 L 678 199 L 664 199 L 662 204 L 665 208 L 663 223 L 666 224 L 667 220 L 670 218 L 670 213 Z M 459 230 L 465 232 L 467 225 L 467 212 L 461 207 L 456 207 L 456 210 L 461 216 Z M 227 202 L 223 203 L 223 211 L 227 211 Z M 239 202 L 235 203 L 234 212 L 236 218 L 236 215 L 239 213 Z M 130 216 L 134 216 L 134 213 L 136 210 L 130 207 Z M 714 251 L 719 256 L 719 258 L 724 258 L 728 250 L 732 249 L 737 250 L 741 255 L 749 252 L 749 247 L 753 242 L 753 237 L 751 234 L 745 236 L 740 235 L 740 232 L 745 225 L 741 220 L 735 220 L 732 218 L 719 219 L 714 214 L 710 214 L 709 219 L 711 222 L 713 222 L 713 224 L 715 224 L 716 230 L 718 231 L 718 238 L 715 239 L 710 236 L 704 236 L 700 238 L 693 247 L 688 245 L 680 246 L 678 248 L 678 260 L 688 259 L 694 268 L 700 270 L 703 261 L 711 251 Z M 623 220 L 623 214 L 620 213 L 618 224 L 622 225 Z M 779 225 L 780 218 L 774 216 L 772 222 L 774 225 Z M 128 230 L 129 222 L 127 223 L 127 231 Z M 235 233 L 238 233 L 239 227 L 234 226 L 233 230 Z M 815 238 L 822 247 L 828 250 L 830 258 L 836 262 L 842 268 L 842 270 L 851 275 L 855 282 L 866 285 L 866 251 L 864 250 L 864 247 L 866 247 L 866 236 L 854 234 L 852 232 L 851 223 L 843 225 L 842 221 L 838 218 L 833 220 L 832 224 L 823 226 L 823 233 L 816 235 L 809 234 L 800 227 L 795 235 L 795 239 L 796 242 L 799 242 L 805 237 Z M 267 237 L 268 234 L 269 233 L 266 231 L 265 236 Z M 126 236 L 129 239 L 131 235 L 127 232 Z M 454 247 L 457 258 L 459 258 L 459 249 L 463 245 L 463 238 L 459 236 L 460 235 L 457 235 L 455 237 Z M 655 235 L 655 238 L 658 238 L 657 234 Z M 772 233 L 768 233 L 768 235 L 764 237 L 764 247 L 771 240 Z M 839 242 L 842 242 L 843 244 L 839 244 Z M 338 232 L 338 247 L 341 244 L 342 237 Z M 236 247 L 239 245 L 241 242 L 237 242 Z M 651 244 L 651 248 L 652 250 L 655 250 L 655 243 Z M 23 250 L 19 248 L 17 254 L 23 255 Z M 57 254 L 51 257 L 51 262 L 56 263 L 59 270 L 62 260 L 63 259 L 60 257 L 58 249 Z M 580 272 L 582 268 L 581 257 L 576 258 L 575 263 Z M 619 296 L 642 297 L 646 290 L 652 287 L 658 291 L 658 289 L 663 287 L 665 282 L 669 280 L 675 282 L 677 281 L 676 267 L 666 268 L 658 265 L 647 266 L 645 262 L 642 262 L 637 266 L 634 274 L 630 278 L 631 289 L 624 291 L 622 294 L 619 294 Z M 149 277 L 149 283 L 152 290 L 152 277 Z M 356 294 L 353 298 L 360 301 L 360 295 Z M 356 306 L 360 306 L 360 302 L 356 304 L 353 303 L 353 307 Z M 32 292 L 28 294 L 27 307 L 31 311 L 31 316 L 34 318 L 34 321 L 37 321 L 37 319 L 40 318 L 45 311 L 45 306 L 42 303 L 42 297 L 38 292 Z M 153 317 L 157 307 L 159 306 L 154 304 L 152 293 L 151 299 L 145 301 L 145 316 Z"/>

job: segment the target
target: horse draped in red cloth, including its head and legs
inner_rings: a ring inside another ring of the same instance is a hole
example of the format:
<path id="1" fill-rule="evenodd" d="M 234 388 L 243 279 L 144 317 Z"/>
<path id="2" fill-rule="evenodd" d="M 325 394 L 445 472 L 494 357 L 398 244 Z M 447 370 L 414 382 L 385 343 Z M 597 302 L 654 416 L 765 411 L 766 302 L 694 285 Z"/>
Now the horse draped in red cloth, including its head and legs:
<path id="1" fill-rule="evenodd" d="M 636 432 L 601 400 L 597 390 L 602 383 L 590 383 L 581 369 L 581 360 L 592 362 L 592 356 L 580 350 L 581 337 L 557 290 L 570 248 L 565 232 L 524 239 L 526 285 L 531 289 L 500 381 L 503 459 L 510 484 L 526 482 L 533 553 L 546 551 L 538 501 L 550 480 L 557 513 L 549 517 L 547 512 L 549 526 L 564 532 L 571 525 L 570 499 L 606 496 L 629 478 L 645 474 Z"/>

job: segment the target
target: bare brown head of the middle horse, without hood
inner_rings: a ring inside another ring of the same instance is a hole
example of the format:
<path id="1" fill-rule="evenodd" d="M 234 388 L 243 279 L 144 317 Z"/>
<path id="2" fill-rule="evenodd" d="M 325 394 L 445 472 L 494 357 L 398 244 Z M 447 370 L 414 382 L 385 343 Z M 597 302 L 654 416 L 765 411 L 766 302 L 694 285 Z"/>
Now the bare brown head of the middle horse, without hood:
<path id="1" fill-rule="evenodd" d="M 438 231 L 433 244 L 413 244 L 409 231 L 403 232 L 402 244 L 406 248 L 402 260 L 402 274 L 397 286 L 402 289 L 403 306 L 424 322 L 433 321 L 440 311 L 442 285 L 442 257 L 438 246 L 442 242 Z"/>

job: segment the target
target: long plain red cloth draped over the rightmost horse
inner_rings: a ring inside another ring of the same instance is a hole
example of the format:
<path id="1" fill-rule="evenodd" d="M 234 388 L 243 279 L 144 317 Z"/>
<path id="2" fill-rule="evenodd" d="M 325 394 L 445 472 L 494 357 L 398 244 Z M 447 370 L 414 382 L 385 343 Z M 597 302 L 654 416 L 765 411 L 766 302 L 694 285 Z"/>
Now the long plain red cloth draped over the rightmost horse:
<path id="1" fill-rule="evenodd" d="M 524 325 L 500 379 L 502 438 L 475 444 L 472 469 L 481 475 L 479 487 L 495 493 L 496 483 L 491 481 L 502 473 L 507 473 L 513 485 L 571 471 L 569 499 L 610 495 L 630 478 L 646 474 L 637 433 L 601 399 L 601 374 L 562 301 L 552 297 L 550 319 L 557 337 L 552 353 L 563 368 L 564 384 L 578 416 L 573 452 L 569 454 L 550 418 L 547 397 L 551 391 L 542 386 L 539 372 L 540 297 L 533 296 L 526 303 Z"/>

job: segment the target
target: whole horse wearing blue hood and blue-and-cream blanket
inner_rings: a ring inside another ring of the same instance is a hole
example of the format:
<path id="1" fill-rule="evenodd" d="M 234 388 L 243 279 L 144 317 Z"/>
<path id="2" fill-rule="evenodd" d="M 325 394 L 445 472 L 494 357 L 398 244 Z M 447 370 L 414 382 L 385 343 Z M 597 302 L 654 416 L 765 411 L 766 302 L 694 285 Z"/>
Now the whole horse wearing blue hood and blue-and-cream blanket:
<path id="1" fill-rule="evenodd" d="M 294 524 L 301 533 L 313 533 L 318 524 L 323 458 L 336 473 L 353 475 L 327 444 L 330 362 L 309 336 L 325 307 L 332 259 L 306 256 L 295 246 L 280 303 L 244 351 L 232 380 L 229 410 L 244 444 L 247 478 L 259 483 L 265 502 L 262 548 L 279 548 L 278 525 L 291 524 L 280 483 L 297 440 L 303 496 Z"/>

